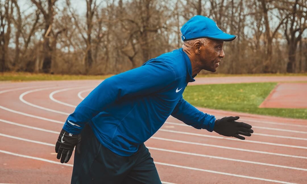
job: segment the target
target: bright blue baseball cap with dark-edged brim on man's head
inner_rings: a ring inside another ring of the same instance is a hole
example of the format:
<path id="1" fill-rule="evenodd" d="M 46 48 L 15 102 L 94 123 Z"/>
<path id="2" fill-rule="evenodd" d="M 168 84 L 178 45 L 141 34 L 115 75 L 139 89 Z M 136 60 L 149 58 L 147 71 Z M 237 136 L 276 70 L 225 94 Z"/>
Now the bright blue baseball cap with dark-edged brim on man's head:
<path id="1" fill-rule="evenodd" d="M 201 15 L 192 17 L 180 30 L 183 41 L 210 38 L 227 42 L 234 40 L 236 37 L 235 35 L 224 33 L 212 19 Z"/>

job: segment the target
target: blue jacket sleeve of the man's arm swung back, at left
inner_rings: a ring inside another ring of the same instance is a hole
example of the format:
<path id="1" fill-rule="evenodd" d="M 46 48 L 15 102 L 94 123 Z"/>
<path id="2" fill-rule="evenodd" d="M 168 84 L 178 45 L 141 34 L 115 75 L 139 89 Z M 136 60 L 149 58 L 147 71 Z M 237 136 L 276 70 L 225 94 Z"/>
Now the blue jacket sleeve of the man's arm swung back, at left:
<path id="1" fill-rule="evenodd" d="M 108 105 L 123 98 L 154 94 L 175 78 L 172 68 L 163 62 L 154 61 L 105 79 L 68 116 L 63 129 L 79 134 L 84 125 Z"/>

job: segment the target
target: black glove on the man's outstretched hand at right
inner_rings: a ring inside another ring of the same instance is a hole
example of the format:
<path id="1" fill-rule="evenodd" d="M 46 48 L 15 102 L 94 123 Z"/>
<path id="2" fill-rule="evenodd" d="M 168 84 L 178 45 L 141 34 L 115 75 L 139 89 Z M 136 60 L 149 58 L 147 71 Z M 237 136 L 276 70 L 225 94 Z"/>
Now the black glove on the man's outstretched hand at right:
<path id="1" fill-rule="evenodd" d="M 244 140 L 245 137 L 241 135 L 251 136 L 254 131 L 251 129 L 251 125 L 235 121 L 238 119 L 239 116 L 228 116 L 216 120 L 213 130 L 220 135 L 235 137 Z"/>

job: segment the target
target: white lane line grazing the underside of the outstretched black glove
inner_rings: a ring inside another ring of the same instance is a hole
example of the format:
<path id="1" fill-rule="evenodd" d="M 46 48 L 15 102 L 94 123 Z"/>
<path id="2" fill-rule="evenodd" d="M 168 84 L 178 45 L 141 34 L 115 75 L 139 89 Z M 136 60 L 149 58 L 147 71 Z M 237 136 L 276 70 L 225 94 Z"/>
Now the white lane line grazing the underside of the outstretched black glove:
<path id="1" fill-rule="evenodd" d="M 251 142 L 251 143 L 257 143 L 257 144 L 266 144 L 266 145 L 283 146 L 283 147 L 290 147 L 290 148 L 307 149 L 307 147 L 305 147 L 305 146 L 296 146 L 296 145 L 287 145 L 287 144 L 277 144 L 277 143 L 262 142 L 262 141 L 241 140 L 241 139 L 237 139 L 237 138 L 228 138 L 228 137 L 220 137 L 220 136 L 214 136 L 214 135 L 196 134 L 196 133 L 190 133 L 190 132 L 166 130 L 166 129 L 161 129 L 161 128 L 159 129 L 159 131 L 172 132 L 172 133 L 185 134 L 185 135 L 195 135 L 195 136 L 200 136 L 200 137 L 209 137 L 209 138 L 217 138 L 217 139 L 226 139 L 226 140 L 232 140 L 232 141 L 243 141 L 243 142 Z"/>

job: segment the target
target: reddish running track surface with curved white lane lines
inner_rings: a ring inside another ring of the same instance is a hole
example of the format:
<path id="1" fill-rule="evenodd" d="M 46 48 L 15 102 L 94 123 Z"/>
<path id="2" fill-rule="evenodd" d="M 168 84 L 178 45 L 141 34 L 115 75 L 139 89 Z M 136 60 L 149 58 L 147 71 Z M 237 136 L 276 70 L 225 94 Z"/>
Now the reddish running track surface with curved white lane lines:
<path id="1" fill-rule="evenodd" d="M 261 81 L 307 77 L 196 78 L 195 84 Z M 74 105 L 99 83 L 0 83 L 0 183 L 70 182 L 73 159 L 60 164 L 54 144 Z M 306 183 L 307 120 L 200 110 L 217 118 L 239 115 L 255 133 L 240 141 L 169 117 L 145 143 L 164 183 Z"/>

